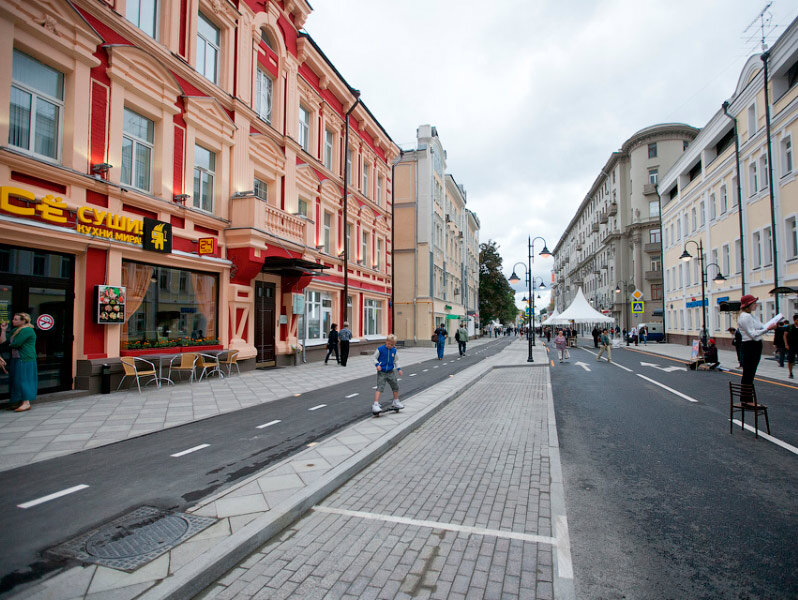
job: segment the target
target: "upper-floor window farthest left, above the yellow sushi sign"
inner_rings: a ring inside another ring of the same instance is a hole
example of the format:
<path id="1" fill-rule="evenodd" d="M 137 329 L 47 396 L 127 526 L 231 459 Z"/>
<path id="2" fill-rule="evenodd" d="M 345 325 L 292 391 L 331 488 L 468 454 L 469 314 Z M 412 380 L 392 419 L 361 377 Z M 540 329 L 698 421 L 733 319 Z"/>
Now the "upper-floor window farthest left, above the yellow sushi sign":
<path id="1" fill-rule="evenodd" d="M 8 143 L 57 160 L 64 110 L 64 74 L 14 50 Z"/>

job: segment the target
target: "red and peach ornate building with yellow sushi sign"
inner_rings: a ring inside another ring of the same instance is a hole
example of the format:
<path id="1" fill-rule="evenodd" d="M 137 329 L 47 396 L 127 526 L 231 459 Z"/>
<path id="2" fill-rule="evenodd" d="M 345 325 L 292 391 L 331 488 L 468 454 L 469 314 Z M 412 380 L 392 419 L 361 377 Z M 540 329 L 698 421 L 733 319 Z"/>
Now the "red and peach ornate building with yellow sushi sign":
<path id="1" fill-rule="evenodd" d="M 344 318 L 356 343 L 389 332 L 399 149 L 310 13 L 2 3 L 0 313 L 50 317 L 41 391 L 153 347 L 273 365 Z"/>

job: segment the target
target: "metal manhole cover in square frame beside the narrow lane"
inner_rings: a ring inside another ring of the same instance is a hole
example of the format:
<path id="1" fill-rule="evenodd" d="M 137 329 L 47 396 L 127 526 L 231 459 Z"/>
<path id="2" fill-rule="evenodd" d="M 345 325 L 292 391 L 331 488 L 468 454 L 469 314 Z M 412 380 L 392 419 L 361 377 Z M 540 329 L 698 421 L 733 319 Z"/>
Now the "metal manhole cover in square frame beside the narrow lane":
<path id="1" fill-rule="evenodd" d="M 166 513 L 142 506 L 47 552 L 121 571 L 135 571 L 215 522 L 211 517 Z"/>

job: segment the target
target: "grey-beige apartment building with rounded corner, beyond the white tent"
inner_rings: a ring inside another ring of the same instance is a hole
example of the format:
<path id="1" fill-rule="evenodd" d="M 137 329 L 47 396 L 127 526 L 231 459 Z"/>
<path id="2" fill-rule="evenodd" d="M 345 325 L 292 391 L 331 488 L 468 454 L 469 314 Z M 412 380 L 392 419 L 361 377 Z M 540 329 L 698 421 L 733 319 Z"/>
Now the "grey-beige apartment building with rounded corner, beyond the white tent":
<path id="1" fill-rule="evenodd" d="M 613 152 L 554 248 L 554 307 L 581 287 L 596 310 L 630 329 L 662 321 L 662 247 L 657 182 L 698 130 L 681 123 L 646 127 Z M 642 293 L 643 311 L 631 297 Z"/>

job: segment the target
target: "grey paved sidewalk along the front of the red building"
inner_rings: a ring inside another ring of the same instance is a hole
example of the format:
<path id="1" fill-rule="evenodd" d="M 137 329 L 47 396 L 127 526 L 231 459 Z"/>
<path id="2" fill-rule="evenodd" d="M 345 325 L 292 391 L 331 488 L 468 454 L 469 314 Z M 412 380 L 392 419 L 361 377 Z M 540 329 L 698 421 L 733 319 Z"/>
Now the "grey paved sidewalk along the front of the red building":
<path id="1" fill-rule="evenodd" d="M 474 349 L 488 338 L 469 342 Z M 446 347 L 457 355 L 457 346 Z M 433 348 L 402 348 L 402 364 L 435 356 Z M 176 427 L 192 421 L 373 375 L 370 356 L 356 355 L 346 367 L 321 362 L 255 370 L 224 379 L 181 383 L 142 394 L 132 390 L 34 403 L 25 413 L 0 411 L 0 471 Z"/>

